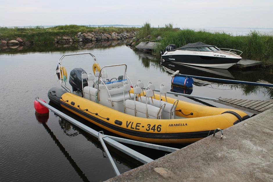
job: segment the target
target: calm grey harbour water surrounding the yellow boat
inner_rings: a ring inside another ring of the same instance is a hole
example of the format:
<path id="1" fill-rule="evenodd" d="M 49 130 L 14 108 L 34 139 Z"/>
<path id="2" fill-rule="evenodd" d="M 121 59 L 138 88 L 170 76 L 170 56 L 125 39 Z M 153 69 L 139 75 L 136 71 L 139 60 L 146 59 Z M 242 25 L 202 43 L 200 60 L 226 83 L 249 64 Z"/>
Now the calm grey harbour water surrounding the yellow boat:
<path id="1" fill-rule="evenodd" d="M 103 181 L 115 176 L 101 145 L 95 138 L 71 126 L 64 119 L 49 113 L 47 120 L 35 115 L 33 101 L 35 97 L 49 102 L 47 92 L 53 86 L 60 86 L 56 81 L 55 69 L 62 54 L 91 52 L 100 66 L 125 63 L 127 75 L 133 83 L 140 79 L 144 83 L 151 81 L 157 85 L 163 83 L 169 89 L 170 74 L 160 66 L 159 60 L 151 55 L 137 53 L 126 47 L 124 42 L 103 42 L 99 45 L 59 47 L 21 47 L 6 48 L 0 52 L 0 181 Z M 67 60 L 69 68 L 75 65 L 87 66 L 87 56 Z M 85 67 L 87 72 L 91 70 Z M 63 62 L 63 64 L 65 64 Z M 170 70 L 168 70 L 171 72 Z M 188 68 L 180 70 L 187 73 Z M 200 71 L 191 69 L 189 73 L 203 76 L 224 77 L 244 81 L 264 80 L 273 83 L 272 74 L 256 70 L 241 72 L 229 70 Z M 220 75 L 219 75 L 220 74 Z M 192 90 L 180 90 L 204 97 L 228 97 L 242 99 L 269 100 L 272 90 L 264 87 L 231 85 L 195 80 Z M 188 102 L 197 103 L 185 97 Z M 217 107 L 226 107 L 212 101 Z M 200 104 L 200 103 L 199 103 Z M 62 108 L 64 113 L 87 124 L 97 131 L 103 129 L 73 115 Z M 251 114 L 251 113 L 249 113 Z M 107 134 L 111 134 L 106 132 Z M 111 134 L 113 135 L 113 134 Z M 183 147 L 176 145 L 174 147 Z M 156 159 L 166 152 L 133 147 L 135 150 Z M 138 161 L 110 148 L 119 171 L 126 172 L 142 165 Z"/>

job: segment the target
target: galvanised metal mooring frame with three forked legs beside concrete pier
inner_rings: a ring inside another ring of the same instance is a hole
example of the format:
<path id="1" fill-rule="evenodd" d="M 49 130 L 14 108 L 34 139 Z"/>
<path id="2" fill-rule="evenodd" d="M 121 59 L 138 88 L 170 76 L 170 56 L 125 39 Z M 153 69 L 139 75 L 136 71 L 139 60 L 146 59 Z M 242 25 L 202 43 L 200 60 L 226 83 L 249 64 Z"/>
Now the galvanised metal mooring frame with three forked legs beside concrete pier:
<path id="1" fill-rule="evenodd" d="M 98 140 L 101 142 L 101 144 L 103 146 L 103 149 L 105 150 L 105 153 L 107 154 L 107 157 L 108 157 L 116 175 L 119 175 L 120 172 L 118 171 L 118 168 L 116 167 L 116 164 L 114 163 L 114 160 L 111 157 L 105 143 L 107 143 L 107 144 L 111 145 L 112 147 L 120 150 L 121 152 L 131 156 L 132 158 L 139 160 L 140 162 L 142 162 L 144 164 L 152 162 L 153 160 L 143 154 L 140 154 L 139 152 L 137 152 L 133 149 L 130 149 L 129 147 L 126 147 L 125 145 L 123 145 L 119 142 L 133 144 L 133 145 L 137 145 L 137 146 L 141 146 L 141 147 L 147 147 L 147 148 L 151 148 L 151 149 L 168 151 L 168 152 L 174 152 L 174 151 L 178 150 L 177 148 L 166 147 L 166 146 L 161 146 L 161 145 L 157 145 L 157 144 L 150 144 L 150 143 L 146 143 L 146 142 L 139 142 L 139 141 L 135 141 L 135 140 L 104 135 L 103 132 L 101 132 L 101 131 L 98 132 L 98 131 L 82 124 L 81 122 L 77 121 L 76 119 L 73 119 L 72 117 L 62 113 L 60 110 L 50 106 L 49 104 L 46 104 L 42 100 L 40 100 L 40 99 L 36 99 L 36 100 L 40 104 L 42 104 L 43 106 L 48 108 L 49 110 L 51 110 L 54 113 L 56 113 L 57 115 L 59 115 L 60 117 L 66 119 L 68 122 L 72 123 L 73 125 L 77 126 L 80 129 L 84 130 L 85 132 L 89 133 L 90 135 L 98 138 Z"/>

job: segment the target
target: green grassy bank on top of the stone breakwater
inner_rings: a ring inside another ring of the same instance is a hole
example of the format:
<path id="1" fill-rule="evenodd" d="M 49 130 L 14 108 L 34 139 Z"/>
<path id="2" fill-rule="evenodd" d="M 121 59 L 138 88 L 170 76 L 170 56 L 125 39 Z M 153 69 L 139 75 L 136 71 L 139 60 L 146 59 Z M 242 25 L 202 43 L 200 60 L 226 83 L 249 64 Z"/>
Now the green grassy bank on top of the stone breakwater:
<path id="1" fill-rule="evenodd" d="M 35 41 L 36 43 L 53 43 L 57 36 L 75 36 L 78 32 L 123 32 L 134 31 L 138 28 L 121 28 L 121 27 L 88 27 L 79 25 L 60 25 L 49 28 L 35 27 L 35 28 L 7 28 L 0 27 L 0 40 L 9 38 L 9 40 L 17 37 L 23 38 L 25 41 Z"/>

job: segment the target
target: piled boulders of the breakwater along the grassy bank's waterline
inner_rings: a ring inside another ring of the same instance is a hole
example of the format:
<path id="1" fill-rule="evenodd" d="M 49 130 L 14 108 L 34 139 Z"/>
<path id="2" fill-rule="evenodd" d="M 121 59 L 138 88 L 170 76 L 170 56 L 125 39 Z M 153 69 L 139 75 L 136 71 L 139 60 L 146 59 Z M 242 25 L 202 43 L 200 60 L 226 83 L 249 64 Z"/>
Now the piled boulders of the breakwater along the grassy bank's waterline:
<path id="1" fill-rule="evenodd" d="M 72 44 L 75 42 L 86 43 L 86 42 L 97 42 L 97 41 L 109 41 L 109 40 L 124 40 L 134 38 L 138 31 L 124 31 L 124 32 L 112 32 L 112 33 L 98 33 L 98 32 L 79 32 L 75 36 L 57 36 L 54 39 L 55 44 Z M 30 45 L 35 44 L 35 41 L 24 41 L 23 38 L 17 38 L 16 40 L 9 40 L 9 38 L 4 38 L 0 42 L 0 46 L 13 47 L 16 45 Z"/>

